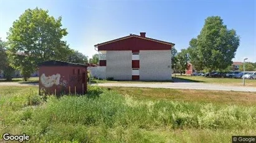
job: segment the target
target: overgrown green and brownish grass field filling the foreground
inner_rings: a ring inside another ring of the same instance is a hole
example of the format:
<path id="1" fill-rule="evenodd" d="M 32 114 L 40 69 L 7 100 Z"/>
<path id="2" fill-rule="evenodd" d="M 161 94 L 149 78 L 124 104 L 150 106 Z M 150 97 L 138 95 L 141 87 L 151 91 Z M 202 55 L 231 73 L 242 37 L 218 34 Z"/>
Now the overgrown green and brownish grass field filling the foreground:
<path id="1" fill-rule="evenodd" d="M 232 135 L 255 135 L 255 93 L 88 87 L 86 96 L 45 101 L 37 92 L 0 87 L 1 135 L 26 132 L 30 142 L 230 142 Z"/>

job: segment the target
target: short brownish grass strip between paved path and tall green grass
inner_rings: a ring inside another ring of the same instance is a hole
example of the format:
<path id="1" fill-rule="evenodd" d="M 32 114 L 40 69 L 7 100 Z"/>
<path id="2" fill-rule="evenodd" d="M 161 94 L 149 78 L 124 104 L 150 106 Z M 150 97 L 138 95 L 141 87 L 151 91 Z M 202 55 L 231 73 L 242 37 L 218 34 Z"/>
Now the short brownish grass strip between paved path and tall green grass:
<path id="1" fill-rule="evenodd" d="M 178 102 L 213 103 L 217 105 L 256 105 L 255 92 L 220 90 L 160 89 L 139 87 L 105 87 L 136 100 L 171 100 Z"/>

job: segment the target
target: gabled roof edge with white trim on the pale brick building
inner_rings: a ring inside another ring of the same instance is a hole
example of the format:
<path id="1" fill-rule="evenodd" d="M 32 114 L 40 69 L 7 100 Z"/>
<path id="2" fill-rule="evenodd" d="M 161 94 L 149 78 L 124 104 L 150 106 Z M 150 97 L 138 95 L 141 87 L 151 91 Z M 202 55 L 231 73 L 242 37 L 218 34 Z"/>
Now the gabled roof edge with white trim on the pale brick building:
<path id="1" fill-rule="evenodd" d="M 141 37 L 139 35 L 131 34 L 131 35 L 126 36 L 126 37 L 117 38 L 115 40 L 110 40 L 110 41 L 106 41 L 106 42 L 103 42 L 103 43 L 98 43 L 97 45 L 94 45 L 94 46 L 101 46 L 101 45 L 105 45 L 105 44 L 112 43 L 112 42 L 119 41 L 119 40 L 124 40 L 126 38 L 131 38 L 131 37 L 136 37 L 136 38 L 141 38 L 141 39 L 145 39 L 145 40 L 156 41 L 158 43 L 163 43 L 163 44 L 166 44 L 166 45 L 172 45 L 172 46 L 175 45 L 174 43 L 170 43 L 170 42 L 167 42 L 167 41 L 161 41 L 161 40 L 156 40 L 156 39 L 153 39 L 153 38 Z"/>

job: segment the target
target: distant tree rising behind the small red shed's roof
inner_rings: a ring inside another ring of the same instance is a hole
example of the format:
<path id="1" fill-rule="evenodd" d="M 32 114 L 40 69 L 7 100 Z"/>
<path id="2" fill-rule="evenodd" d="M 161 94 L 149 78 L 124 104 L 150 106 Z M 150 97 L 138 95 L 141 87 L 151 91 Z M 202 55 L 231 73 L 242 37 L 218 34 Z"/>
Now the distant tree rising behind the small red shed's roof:
<path id="1" fill-rule="evenodd" d="M 87 64 L 88 56 L 85 56 L 83 53 L 73 50 L 72 53 L 69 55 L 67 61 L 71 63 Z"/>

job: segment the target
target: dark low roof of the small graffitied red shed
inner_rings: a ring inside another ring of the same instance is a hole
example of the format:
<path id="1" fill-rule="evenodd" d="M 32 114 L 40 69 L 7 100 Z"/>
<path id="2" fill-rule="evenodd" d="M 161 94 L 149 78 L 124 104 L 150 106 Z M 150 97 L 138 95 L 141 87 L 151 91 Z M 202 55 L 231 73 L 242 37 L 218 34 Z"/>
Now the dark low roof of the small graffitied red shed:
<path id="1" fill-rule="evenodd" d="M 78 64 L 78 63 L 70 63 L 59 60 L 50 60 L 39 63 L 38 66 L 77 66 L 77 67 L 87 67 L 87 64 Z"/>

